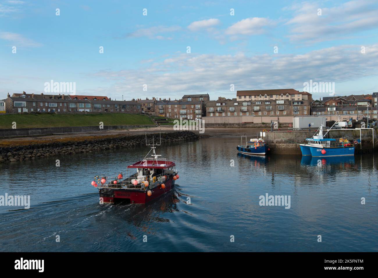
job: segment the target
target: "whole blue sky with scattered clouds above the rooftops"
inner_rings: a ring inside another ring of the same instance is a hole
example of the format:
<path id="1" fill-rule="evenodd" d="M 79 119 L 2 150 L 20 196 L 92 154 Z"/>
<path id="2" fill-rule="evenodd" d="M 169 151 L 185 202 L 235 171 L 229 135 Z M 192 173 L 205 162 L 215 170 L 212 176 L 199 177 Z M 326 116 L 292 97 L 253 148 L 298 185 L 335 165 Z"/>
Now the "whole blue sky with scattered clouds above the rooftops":
<path id="1" fill-rule="evenodd" d="M 371 94 L 377 15 L 376 0 L 0 0 L 0 99 L 51 80 L 117 100 L 303 91 L 310 80 Z"/>

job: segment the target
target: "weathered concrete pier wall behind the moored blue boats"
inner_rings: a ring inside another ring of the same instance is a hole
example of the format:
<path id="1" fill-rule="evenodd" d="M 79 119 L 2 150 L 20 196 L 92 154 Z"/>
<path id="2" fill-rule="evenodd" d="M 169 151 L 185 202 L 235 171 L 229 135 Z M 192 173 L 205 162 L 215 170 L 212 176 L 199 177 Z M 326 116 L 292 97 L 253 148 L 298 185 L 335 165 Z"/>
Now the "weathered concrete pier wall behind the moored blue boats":
<path id="1" fill-rule="evenodd" d="M 266 144 L 271 148 L 272 153 L 276 154 L 301 154 L 299 144 L 303 144 L 306 138 L 311 138 L 316 130 L 311 131 L 273 131 L 265 133 Z M 327 131 L 323 131 L 325 134 Z M 374 133 L 374 149 L 373 149 Z M 329 135 L 329 136 L 328 136 Z M 360 139 L 359 129 L 339 129 L 330 130 L 326 137 L 346 138 L 348 140 Z M 357 144 L 356 153 L 368 153 L 378 150 L 378 129 L 361 128 L 361 144 Z"/>

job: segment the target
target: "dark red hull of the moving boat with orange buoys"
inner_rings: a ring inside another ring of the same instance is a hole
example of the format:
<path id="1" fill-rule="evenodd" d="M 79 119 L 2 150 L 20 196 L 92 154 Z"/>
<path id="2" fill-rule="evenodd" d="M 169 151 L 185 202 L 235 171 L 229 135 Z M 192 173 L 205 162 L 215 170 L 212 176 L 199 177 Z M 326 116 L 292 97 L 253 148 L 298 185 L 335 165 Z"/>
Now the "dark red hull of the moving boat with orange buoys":
<path id="1" fill-rule="evenodd" d="M 147 191 L 144 190 L 101 188 L 99 190 L 100 201 L 104 203 L 114 203 L 115 201 L 130 201 L 130 204 L 146 204 L 172 190 L 172 188 L 174 188 L 175 186 L 175 180 L 173 179 L 173 177 L 171 177 L 164 182 L 164 185 L 165 188 L 162 188 L 161 185 L 158 185 L 150 189 L 152 192 L 151 196 L 148 196 Z"/>

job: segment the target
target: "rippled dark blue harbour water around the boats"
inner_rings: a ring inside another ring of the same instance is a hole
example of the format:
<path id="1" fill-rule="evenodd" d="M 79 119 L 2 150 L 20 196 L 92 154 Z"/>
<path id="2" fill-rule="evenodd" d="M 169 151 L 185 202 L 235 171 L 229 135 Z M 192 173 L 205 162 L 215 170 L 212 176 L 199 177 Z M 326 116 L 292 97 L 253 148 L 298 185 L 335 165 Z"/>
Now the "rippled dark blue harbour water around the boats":
<path id="1" fill-rule="evenodd" d="M 180 179 L 147 205 L 100 205 L 90 185 L 142 159 L 146 147 L 0 164 L 0 195 L 31 196 L 30 209 L 0 207 L 0 250 L 378 251 L 377 156 L 245 157 L 239 142 L 160 146 Z M 260 206 L 266 193 L 290 195 L 290 209 Z"/>

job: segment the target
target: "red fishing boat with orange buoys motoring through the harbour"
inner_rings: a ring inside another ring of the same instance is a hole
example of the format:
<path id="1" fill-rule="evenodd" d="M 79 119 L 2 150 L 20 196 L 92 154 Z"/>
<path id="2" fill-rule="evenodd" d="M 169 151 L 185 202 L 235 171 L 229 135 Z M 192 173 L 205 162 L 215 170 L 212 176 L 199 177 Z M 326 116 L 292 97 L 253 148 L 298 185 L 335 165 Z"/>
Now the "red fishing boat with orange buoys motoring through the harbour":
<path id="1" fill-rule="evenodd" d="M 179 178 L 176 165 L 161 155 L 155 153 L 153 143 L 143 160 L 127 166 L 126 170 L 115 175 L 98 175 L 92 181 L 92 185 L 97 187 L 100 193 L 100 202 L 114 203 L 124 201 L 131 204 L 146 204 L 169 192 L 175 186 L 175 181 Z M 147 156 L 152 158 L 147 158 Z"/>

